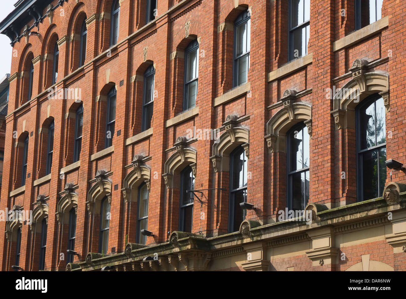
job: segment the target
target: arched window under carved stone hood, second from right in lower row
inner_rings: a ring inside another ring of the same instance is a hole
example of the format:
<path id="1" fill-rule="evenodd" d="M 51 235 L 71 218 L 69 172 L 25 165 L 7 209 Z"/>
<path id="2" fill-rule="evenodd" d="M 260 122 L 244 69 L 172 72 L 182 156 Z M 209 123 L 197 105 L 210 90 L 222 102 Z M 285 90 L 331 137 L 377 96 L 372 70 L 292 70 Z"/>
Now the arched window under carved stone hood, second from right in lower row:
<path id="1" fill-rule="evenodd" d="M 301 122 L 287 133 L 287 207 L 303 211 L 309 202 L 310 136 Z"/>

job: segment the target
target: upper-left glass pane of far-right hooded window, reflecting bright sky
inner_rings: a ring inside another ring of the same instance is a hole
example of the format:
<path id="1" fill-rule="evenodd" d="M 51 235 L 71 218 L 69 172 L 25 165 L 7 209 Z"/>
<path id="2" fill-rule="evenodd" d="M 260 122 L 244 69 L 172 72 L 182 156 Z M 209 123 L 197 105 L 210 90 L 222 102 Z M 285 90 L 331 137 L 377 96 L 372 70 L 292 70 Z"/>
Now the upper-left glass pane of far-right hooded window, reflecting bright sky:
<path id="1" fill-rule="evenodd" d="M 360 149 L 375 146 L 375 103 L 360 110 Z"/>

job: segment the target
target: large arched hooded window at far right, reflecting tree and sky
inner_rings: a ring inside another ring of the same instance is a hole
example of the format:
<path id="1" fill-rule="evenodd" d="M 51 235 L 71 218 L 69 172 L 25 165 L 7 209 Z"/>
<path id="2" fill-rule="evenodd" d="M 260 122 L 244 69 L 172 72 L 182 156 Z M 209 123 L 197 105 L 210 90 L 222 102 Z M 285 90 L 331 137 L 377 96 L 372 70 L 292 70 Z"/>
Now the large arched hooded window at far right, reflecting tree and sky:
<path id="1" fill-rule="evenodd" d="M 382 195 L 386 181 L 386 125 L 383 98 L 373 94 L 356 108 L 358 200 Z"/>

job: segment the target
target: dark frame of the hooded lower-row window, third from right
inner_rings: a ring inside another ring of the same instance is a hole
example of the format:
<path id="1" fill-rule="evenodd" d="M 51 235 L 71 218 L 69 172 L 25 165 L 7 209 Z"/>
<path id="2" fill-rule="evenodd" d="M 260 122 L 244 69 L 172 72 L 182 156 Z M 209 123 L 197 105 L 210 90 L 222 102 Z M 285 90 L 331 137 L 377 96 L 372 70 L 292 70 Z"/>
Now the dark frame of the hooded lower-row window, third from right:
<path id="1" fill-rule="evenodd" d="M 238 188 L 233 188 L 233 173 L 234 173 L 234 160 L 236 158 L 238 158 L 239 155 L 244 154 L 244 159 L 246 159 L 247 161 L 247 169 L 244 170 L 244 161 L 243 161 L 243 181 L 244 181 L 244 175 L 247 177 L 247 184 L 242 186 L 242 187 L 238 187 Z M 235 209 L 235 194 L 237 194 L 238 192 L 245 192 L 244 195 L 244 203 L 247 202 L 247 197 L 248 197 L 248 158 L 245 155 L 245 150 L 244 148 L 239 145 L 236 148 L 233 149 L 233 151 L 230 154 L 230 181 L 229 181 L 229 186 L 230 186 L 230 191 L 229 191 L 229 221 L 228 221 L 228 231 L 229 233 L 233 233 L 234 230 L 234 226 L 235 226 L 235 214 L 234 214 L 234 209 Z M 246 217 L 246 210 L 243 210 L 243 218 L 245 219 Z"/>

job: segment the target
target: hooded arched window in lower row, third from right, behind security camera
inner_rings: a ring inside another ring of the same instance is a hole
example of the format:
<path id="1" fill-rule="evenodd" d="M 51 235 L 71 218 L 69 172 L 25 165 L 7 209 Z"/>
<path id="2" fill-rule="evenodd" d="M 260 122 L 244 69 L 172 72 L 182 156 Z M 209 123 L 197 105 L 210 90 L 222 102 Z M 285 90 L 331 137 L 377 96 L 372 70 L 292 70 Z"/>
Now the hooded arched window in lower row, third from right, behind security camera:
<path id="1" fill-rule="evenodd" d="M 240 203 L 247 202 L 248 159 L 244 148 L 238 146 L 230 155 L 229 232 L 238 231 L 245 219 Z"/>

